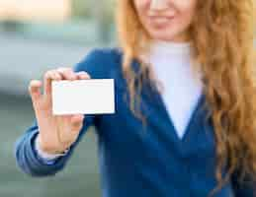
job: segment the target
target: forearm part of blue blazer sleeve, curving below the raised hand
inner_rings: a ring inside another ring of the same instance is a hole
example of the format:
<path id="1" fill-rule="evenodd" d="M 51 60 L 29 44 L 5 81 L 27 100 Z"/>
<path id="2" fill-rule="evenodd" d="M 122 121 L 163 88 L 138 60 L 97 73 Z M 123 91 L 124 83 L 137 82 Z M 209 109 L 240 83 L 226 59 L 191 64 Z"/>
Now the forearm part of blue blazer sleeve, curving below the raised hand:
<path id="1" fill-rule="evenodd" d="M 36 152 L 35 140 L 39 134 L 39 127 L 37 122 L 35 122 L 34 125 L 31 126 L 15 143 L 15 158 L 18 166 L 31 176 L 54 175 L 56 172 L 62 170 L 67 164 L 82 135 L 86 133 L 88 127 L 93 124 L 93 121 L 93 116 L 85 116 L 83 128 L 81 129 L 76 142 L 71 145 L 69 151 L 65 155 L 55 159 L 52 163 L 43 161 Z"/>

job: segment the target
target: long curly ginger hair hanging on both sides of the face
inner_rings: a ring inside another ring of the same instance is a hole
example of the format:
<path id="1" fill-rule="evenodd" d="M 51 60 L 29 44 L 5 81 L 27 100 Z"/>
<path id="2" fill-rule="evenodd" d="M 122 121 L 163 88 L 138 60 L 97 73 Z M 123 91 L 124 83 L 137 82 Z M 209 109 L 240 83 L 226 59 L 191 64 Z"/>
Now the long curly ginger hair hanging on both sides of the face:
<path id="1" fill-rule="evenodd" d="M 213 191 L 237 169 L 240 179 L 245 174 L 256 176 L 253 7 L 253 0 L 198 0 L 188 31 L 195 49 L 193 66 L 204 74 L 206 102 L 212 111 L 218 180 Z M 161 91 L 152 69 L 140 59 L 141 51 L 148 49 L 150 36 L 139 22 L 131 0 L 118 1 L 116 20 L 124 51 L 122 68 L 128 82 L 129 107 L 144 123 L 145 117 L 135 110 L 135 103 L 139 105 L 136 91 L 141 91 L 145 80 Z M 130 66 L 133 58 L 140 62 L 137 74 Z M 221 169 L 226 165 L 228 170 L 222 177 Z"/>

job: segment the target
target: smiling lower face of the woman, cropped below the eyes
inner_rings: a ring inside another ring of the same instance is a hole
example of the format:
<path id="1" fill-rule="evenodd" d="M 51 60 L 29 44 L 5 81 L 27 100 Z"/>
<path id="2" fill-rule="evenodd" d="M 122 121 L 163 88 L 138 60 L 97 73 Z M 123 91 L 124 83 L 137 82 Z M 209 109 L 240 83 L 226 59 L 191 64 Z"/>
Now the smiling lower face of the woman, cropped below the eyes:
<path id="1" fill-rule="evenodd" d="M 139 20 L 152 39 L 183 42 L 197 0 L 133 0 Z"/>

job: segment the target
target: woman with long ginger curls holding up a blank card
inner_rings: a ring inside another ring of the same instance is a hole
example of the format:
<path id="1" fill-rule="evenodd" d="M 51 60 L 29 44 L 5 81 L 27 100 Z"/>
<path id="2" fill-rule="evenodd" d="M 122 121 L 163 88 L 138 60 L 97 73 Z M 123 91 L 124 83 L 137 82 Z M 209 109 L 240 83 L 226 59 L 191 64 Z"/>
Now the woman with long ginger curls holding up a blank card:
<path id="1" fill-rule="evenodd" d="M 31 82 L 17 163 L 55 174 L 94 124 L 103 196 L 253 196 L 252 20 L 250 0 L 119 0 L 120 47 Z M 50 82 L 90 78 L 115 79 L 116 113 L 52 116 Z"/>

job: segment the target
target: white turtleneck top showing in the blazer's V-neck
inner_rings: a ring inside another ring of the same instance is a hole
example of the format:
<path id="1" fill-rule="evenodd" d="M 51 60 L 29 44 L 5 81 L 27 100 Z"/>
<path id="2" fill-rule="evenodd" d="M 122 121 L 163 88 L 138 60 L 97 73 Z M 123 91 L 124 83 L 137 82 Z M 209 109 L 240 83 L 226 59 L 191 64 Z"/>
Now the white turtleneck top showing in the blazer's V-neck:
<path id="1" fill-rule="evenodd" d="M 163 84 L 162 99 L 179 138 L 185 134 L 203 87 L 200 73 L 193 70 L 191 52 L 190 42 L 157 40 L 152 42 L 148 56 Z"/>

